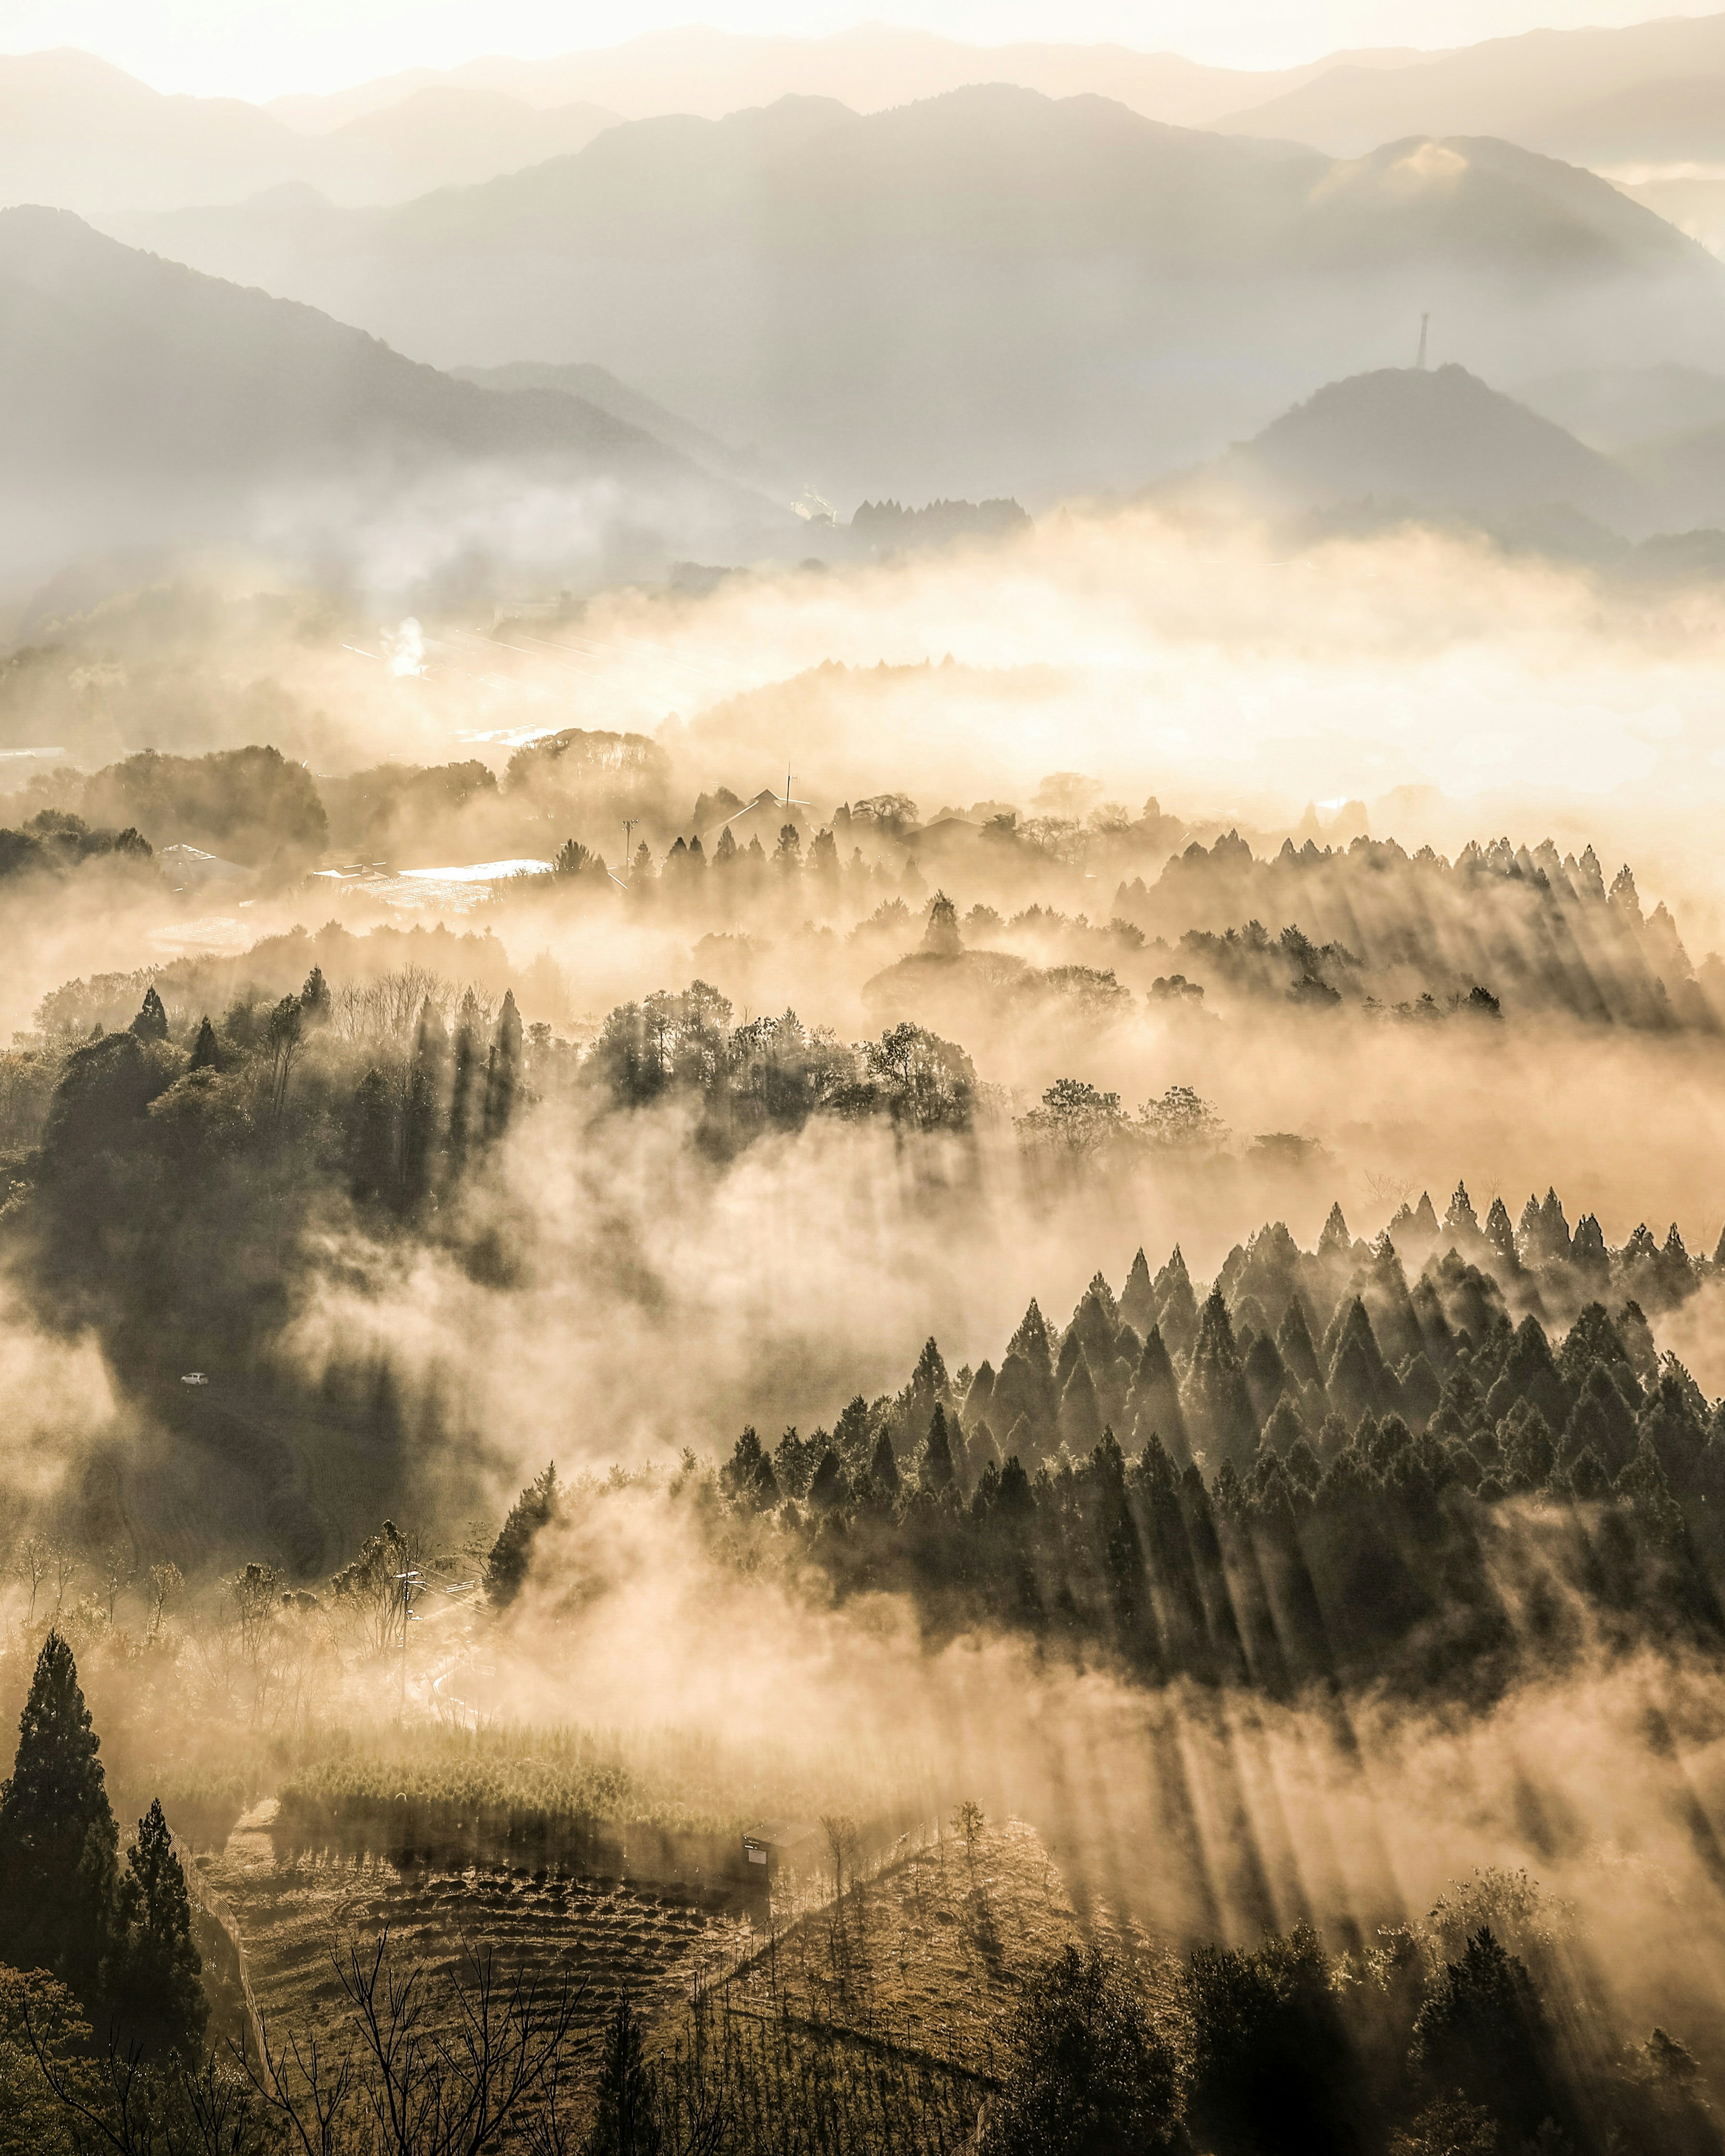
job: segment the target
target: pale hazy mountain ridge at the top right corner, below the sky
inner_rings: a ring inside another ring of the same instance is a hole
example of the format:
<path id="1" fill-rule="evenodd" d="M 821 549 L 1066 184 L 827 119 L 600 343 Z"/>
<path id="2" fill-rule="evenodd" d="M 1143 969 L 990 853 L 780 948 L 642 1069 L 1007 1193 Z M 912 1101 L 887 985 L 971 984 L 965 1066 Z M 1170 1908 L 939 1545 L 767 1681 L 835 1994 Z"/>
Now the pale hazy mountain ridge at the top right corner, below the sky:
<path id="1" fill-rule="evenodd" d="M 1356 157 L 1406 134 L 1507 136 L 1578 164 L 1725 155 L 1725 15 L 1529 30 L 1412 67 L 1326 67 L 1218 125 Z"/>

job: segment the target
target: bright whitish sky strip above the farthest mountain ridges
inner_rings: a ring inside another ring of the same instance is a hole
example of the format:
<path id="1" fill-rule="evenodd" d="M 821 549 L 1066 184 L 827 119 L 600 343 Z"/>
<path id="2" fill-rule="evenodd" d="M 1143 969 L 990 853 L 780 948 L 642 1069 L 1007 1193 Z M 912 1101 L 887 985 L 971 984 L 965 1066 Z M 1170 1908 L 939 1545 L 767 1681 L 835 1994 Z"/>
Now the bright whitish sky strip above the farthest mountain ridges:
<path id="1" fill-rule="evenodd" d="M 1714 13 L 1721 0 L 899 0 L 891 19 L 979 43 L 1104 41 L 1231 67 L 1341 45 L 1445 47 L 1540 26 Z M 0 0 L 0 50 L 82 45 L 162 91 L 272 97 L 451 67 L 479 52 L 612 45 L 701 19 L 822 34 L 886 13 L 856 0 Z"/>

